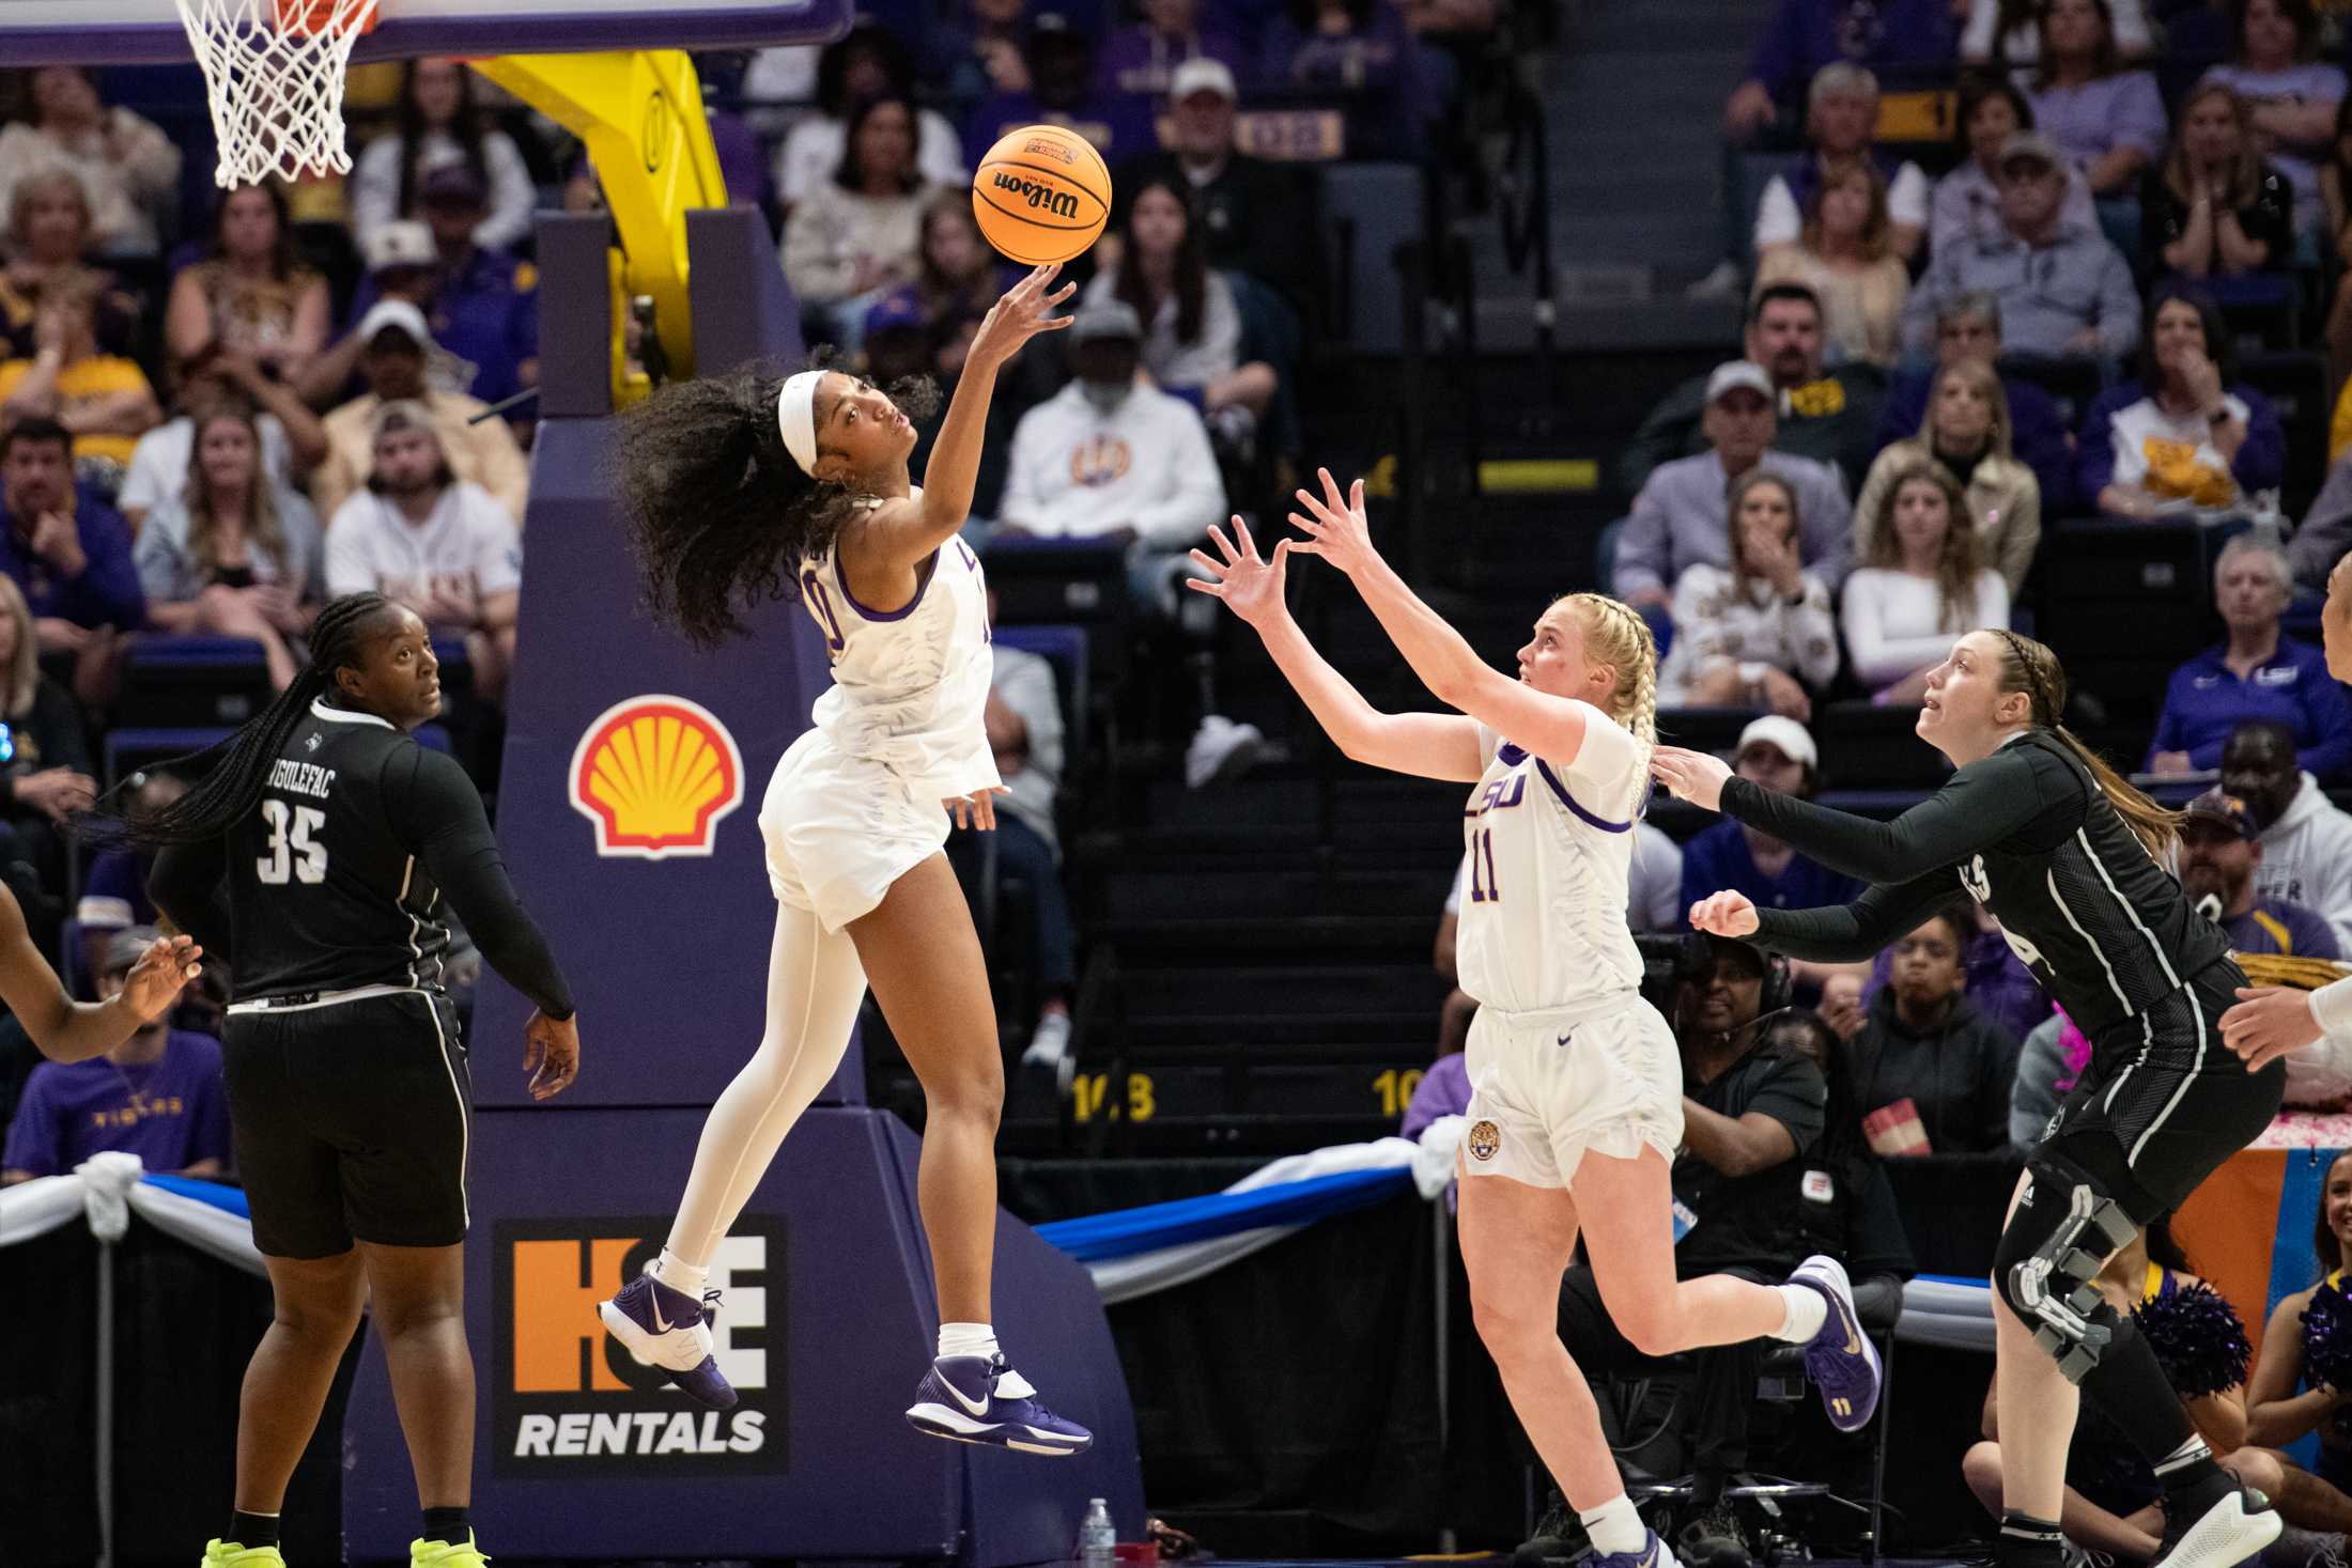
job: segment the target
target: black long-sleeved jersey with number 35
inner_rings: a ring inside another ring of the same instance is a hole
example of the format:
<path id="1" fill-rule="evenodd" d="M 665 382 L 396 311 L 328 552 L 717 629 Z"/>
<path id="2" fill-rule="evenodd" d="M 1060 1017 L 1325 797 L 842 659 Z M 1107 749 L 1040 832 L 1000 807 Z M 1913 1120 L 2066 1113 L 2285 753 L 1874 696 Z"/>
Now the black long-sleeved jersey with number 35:
<path id="1" fill-rule="evenodd" d="M 158 856 L 151 891 L 207 952 L 228 957 L 240 1001 L 374 985 L 437 992 L 454 907 L 492 969 L 548 1016 L 572 1016 L 473 780 L 367 712 L 313 703 L 245 818 L 212 844 Z"/>

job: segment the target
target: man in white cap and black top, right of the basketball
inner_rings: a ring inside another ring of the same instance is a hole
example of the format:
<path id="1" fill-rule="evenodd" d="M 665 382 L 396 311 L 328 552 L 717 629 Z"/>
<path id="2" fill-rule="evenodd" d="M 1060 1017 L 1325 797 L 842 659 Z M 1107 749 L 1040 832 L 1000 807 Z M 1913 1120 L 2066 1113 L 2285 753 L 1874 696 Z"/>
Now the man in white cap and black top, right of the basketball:
<path id="1" fill-rule="evenodd" d="M 1096 242 L 1096 270 L 1117 266 L 1127 207 L 1150 179 L 1178 176 L 1200 207 L 1200 242 L 1211 268 L 1249 273 L 1308 310 L 1317 301 L 1315 183 L 1296 165 L 1242 153 L 1235 143 L 1240 92 L 1232 71 L 1195 56 L 1169 75 L 1169 143 L 1122 162 L 1110 181 L 1110 233 Z"/>

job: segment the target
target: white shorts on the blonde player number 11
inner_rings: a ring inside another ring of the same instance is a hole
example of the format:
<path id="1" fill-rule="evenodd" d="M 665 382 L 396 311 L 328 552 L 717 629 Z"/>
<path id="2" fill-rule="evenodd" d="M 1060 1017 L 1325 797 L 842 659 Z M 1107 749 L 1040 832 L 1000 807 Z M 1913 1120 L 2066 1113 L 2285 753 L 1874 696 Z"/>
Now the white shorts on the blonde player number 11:
<path id="1" fill-rule="evenodd" d="M 1682 1147 L 1682 1053 L 1635 992 L 1470 1023 L 1470 1128 L 1461 1168 L 1566 1187 L 1585 1154 Z"/>

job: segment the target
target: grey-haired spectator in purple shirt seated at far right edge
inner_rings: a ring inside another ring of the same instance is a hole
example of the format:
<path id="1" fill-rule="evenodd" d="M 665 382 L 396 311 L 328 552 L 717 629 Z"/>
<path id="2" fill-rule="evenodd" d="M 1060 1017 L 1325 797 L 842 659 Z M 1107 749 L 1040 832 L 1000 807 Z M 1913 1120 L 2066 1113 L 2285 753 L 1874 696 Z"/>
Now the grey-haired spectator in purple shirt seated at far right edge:
<path id="1" fill-rule="evenodd" d="M 2279 545 L 2251 534 L 2223 545 L 2213 602 L 2230 637 L 2173 670 L 2147 771 L 2218 769 L 2230 731 L 2246 719 L 2284 724 L 2296 766 L 2321 783 L 2352 769 L 2352 701 L 2319 649 L 2279 632 L 2288 597 L 2293 569 Z"/>

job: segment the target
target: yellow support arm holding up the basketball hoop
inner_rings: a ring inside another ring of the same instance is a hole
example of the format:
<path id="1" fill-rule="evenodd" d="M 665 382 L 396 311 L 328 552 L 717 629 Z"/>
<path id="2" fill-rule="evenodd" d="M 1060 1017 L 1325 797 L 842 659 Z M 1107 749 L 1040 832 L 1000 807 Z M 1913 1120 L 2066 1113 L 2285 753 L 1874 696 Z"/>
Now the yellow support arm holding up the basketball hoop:
<path id="1" fill-rule="evenodd" d="M 644 395 L 623 376 L 621 322 L 630 294 L 654 299 L 654 331 L 673 376 L 694 374 L 687 310 L 687 209 L 724 207 L 703 85 L 682 49 L 607 54 L 501 54 L 470 61 L 499 87 L 588 146 L 614 228 L 621 230 L 621 299 L 614 313 L 614 407 Z"/>

